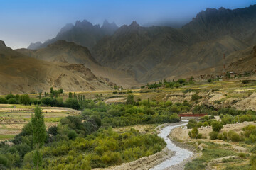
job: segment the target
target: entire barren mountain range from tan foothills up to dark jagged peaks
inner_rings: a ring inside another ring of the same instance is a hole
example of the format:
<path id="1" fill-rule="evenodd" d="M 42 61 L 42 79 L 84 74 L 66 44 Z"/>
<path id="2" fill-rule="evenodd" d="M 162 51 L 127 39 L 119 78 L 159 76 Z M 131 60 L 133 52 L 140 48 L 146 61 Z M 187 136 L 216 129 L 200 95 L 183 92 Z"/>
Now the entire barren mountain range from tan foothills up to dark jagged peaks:
<path id="1" fill-rule="evenodd" d="M 28 49 L 0 45 L 0 86 L 23 93 L 50 86 L 67 91 L 112 89 L 115 84 L 130 88 L 159 79 L 220 73 L 223 54 L 228 70 L 245 72 L 250 69 L 246 65 L 256 65 L 256 6 L 207 8 L 181 28 L 144 27 L 136 21 L 121 27 L 105 21 L 100 27 L 77 21 Z"/>

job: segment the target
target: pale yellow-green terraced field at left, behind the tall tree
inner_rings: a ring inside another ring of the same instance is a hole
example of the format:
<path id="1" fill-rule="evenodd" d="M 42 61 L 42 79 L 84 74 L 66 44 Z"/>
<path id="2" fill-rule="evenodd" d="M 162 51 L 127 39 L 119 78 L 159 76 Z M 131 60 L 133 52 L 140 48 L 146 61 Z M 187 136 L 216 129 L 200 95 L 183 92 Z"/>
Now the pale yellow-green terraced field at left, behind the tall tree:
<path id="1" fill-rule="evenodd" d="M 29 122 L 35 106 L 0 104 L 0 140 L 14 137 Z M 43 107 L 46 127 L 57 125 L 60 119 L 80 112 L 70 108 Z"/>

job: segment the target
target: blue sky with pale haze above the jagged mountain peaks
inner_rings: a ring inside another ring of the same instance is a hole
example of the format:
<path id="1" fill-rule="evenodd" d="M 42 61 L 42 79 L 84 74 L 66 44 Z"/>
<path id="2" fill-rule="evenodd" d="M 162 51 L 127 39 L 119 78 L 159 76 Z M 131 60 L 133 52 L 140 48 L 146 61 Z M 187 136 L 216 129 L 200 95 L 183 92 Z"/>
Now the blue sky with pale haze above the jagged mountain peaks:
<path id="1" fill-rule="evenodd" d="M 187 23 L 206 8 L 245 8 L 252 0 L 0 0 L 0 40 L 17 49 L 54 38 L 66 23 L 105 19 L 117 26 L 137 21 Z"/>

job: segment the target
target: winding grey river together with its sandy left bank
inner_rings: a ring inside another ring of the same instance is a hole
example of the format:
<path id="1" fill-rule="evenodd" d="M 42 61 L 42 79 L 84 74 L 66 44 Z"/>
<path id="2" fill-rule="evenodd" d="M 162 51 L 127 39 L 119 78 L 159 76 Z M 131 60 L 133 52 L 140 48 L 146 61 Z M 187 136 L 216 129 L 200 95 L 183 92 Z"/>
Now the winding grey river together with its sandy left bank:
<path id="1" fill-rule="evenodd" d="M 183 170 L 187 162 L 191 162 L 192 158 L 199 156 L 197 155 L 198 153 L 196 153 L 196 149 L 193 149 L 191 145 L 178 142 L 170 135 L 171 130 L 185 125 L 186 122 L 165 123 L 156 127 L 156 132 L 158 133 L 159 137 L 164 138 L 166 141 L 166 147 L 161 152 L 153 154 L 149 157 L 142 157 L 134 162 L 108 167 L 106 169 L 94 170 Z M 164 136 L 160 136 L 161 134 L 164 134 Z"/>

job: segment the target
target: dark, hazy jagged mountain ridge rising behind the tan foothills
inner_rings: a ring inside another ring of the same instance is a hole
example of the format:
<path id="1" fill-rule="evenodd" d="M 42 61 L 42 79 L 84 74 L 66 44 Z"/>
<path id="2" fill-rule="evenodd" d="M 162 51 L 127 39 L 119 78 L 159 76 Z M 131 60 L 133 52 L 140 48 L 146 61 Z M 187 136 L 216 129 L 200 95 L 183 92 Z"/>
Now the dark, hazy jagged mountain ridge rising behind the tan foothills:
<path id="1" fill-rule="evenodd" d="M 109 23 L 105 23 L 100 28 L 88 21 L 77 22 L 73 27 L 70 24 L 65 26 L 56 38 L 43 45 L 63 37 L 64 40 L 72 37 L 70 41 L 84 47 L 89 46 L 92 53 L 90 56 L 95 59 L 94 64 L 99 63 L 104 68 L 111 68 L 113 72 L 116 72 L 115 70 L 129 72 L 137 81 L 146 83 L 159 79 L 174 79 L 213 67 L 216 68 L 215 72 L 221 72 L 217 68 L 223 64 L 224 53 L 229 56 L 255 45 L 255 26 L 255 5 L 235 10 L 207 8 L 179 29 L 167 26 L 142 27 L 136 21 L 118 29 L 114 24 Z M 113 29 L 107 31 L 107 28 Z M 87 32 L 78 30 L 90 30 L 91 34 L 89 36 Z M 100 33 L 100 36 L 97 33 Z M 87 46 L 85 42 L 88 42 Z M 50 46 L 46 49 L 49 50 Z M 50 57 L 47 53 L 43 55 L 40 50 L 35 54 L 37 55 L 31 57 L 41 57 L 48 61 L 63 62 L 65 58 L 65 54 L 61 53 L 54 55 L 55 57 Z M 233 57 L 232 60 L 226 61 L 227 65 L 240 58 L 239 55 Z M 70 56 L 67 62 L 85 64 L 92 69 L 91 64 L 86 64 L 76 57 Z M 92 72 L 101 72 L 99 70 L 100 67 L 97 67 L 92 69 Z"/>

